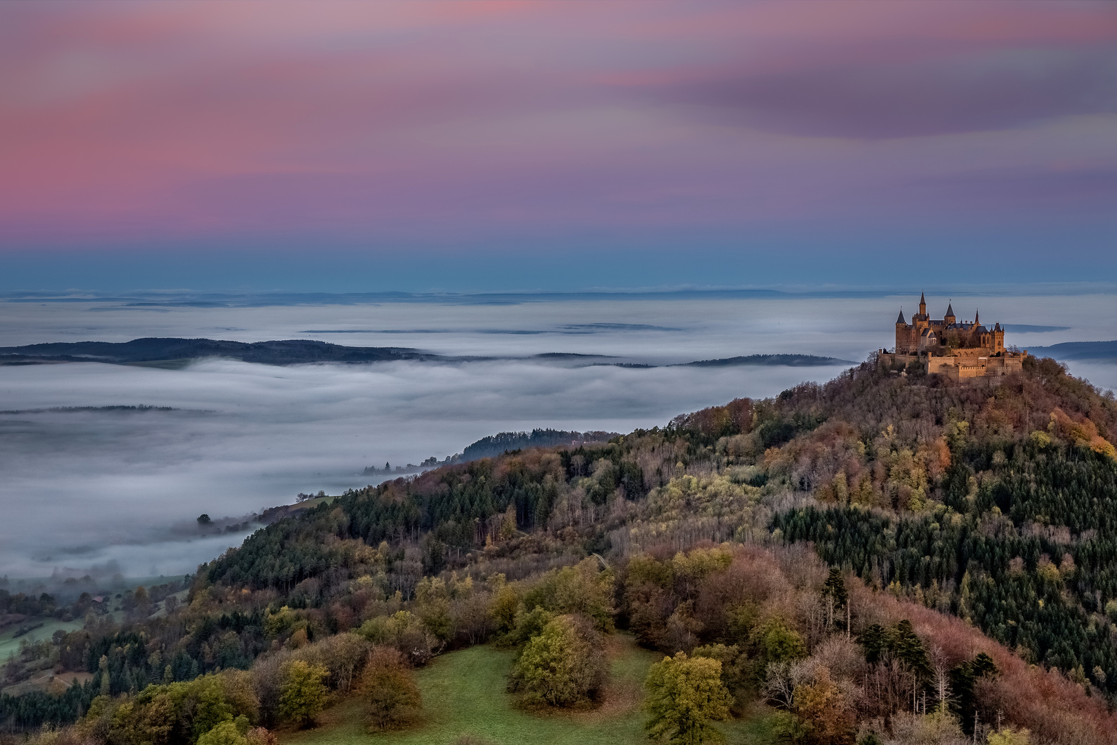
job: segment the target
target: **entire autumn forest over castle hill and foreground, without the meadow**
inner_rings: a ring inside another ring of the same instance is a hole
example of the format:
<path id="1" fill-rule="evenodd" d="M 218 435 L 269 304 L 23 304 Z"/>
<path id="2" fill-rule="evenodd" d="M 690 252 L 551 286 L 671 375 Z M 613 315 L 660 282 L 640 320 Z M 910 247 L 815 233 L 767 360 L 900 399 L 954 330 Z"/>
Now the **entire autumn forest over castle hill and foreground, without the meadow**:
<path id="1" fill-rule="evenodd" d="M 605 443 L 442 466 L 258 531 L 200 566 L 179 608 L 90 614 L 21 650 L 10 679 L 46 656 L 93 680 L 67 704 L 0 697 L 0 718 L 80 716 L 67 736 L 113 745 L 193 743 L 213 722 L 259 739 L 250 725 L 307 724 L 331 696 L 381 700 L 362 676 L 402 685 L 483 642 L 521 650 L 509 687 L 525 706 L 592 706 L 593 650 L 621 629 L 685 655 L 649 677 L 653 723 L 676 722 L 665 690 L 716 667 L 704 700 L 724 706 L 706 719 L 764 700 L 794 742 L 1001 743 L 1027 727 L 1108 743 L 1115 428 L 1113 398 L 1052 361 L 963 384 L 870 361 Z M 540 672 L 554 669 L 571 678 Z M 251 697 L 199 724 L 202 698 L 235 697 L 210 679 Z M 113 724 L 155 700 L 163 728 Z M 400 706 L 421 718 L 413 697 Z"/>

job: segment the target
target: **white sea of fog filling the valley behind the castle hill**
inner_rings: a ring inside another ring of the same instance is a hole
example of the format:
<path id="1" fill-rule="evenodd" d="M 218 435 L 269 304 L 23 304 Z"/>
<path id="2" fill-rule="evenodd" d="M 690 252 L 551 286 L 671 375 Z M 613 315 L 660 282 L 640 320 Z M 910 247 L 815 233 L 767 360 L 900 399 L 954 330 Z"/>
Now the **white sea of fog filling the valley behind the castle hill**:
<path id="1" fill-rule="evenodd" d="M 471 362 L 268 366 L 225 360 L 183 370 L 98 363 L 0 367 L 0 575 L 130 576 L 193 571 L 247 531 L 239 517 L 375 483 L 365 466 L 418 464 L 499 431 L 627 432 L 737 397 L 768 397 L 838 366 L 588 365 L 544 353 L 668 365 L 748 354 L 863 360 L 890 346 L 910 297 L 780 299 L 647 296 L 538 302 L 384 302 L 194 307 L 113 300 L 0 302 L 0 346 L 142 336 L 256 342 L 316 338 L 405 346 Z M 946 298 L 933 298 L 942 316 Z M 938 307 L 943 306 L 943 307 Z M 960 318 L 1023 324 L 1027 348 L 1113 338 L 1111 295 L 966 297 Z M 1072 364 L 1117 386 L 1117 365 Z M 147 405 L 168 410 L 61 410 Z"/>

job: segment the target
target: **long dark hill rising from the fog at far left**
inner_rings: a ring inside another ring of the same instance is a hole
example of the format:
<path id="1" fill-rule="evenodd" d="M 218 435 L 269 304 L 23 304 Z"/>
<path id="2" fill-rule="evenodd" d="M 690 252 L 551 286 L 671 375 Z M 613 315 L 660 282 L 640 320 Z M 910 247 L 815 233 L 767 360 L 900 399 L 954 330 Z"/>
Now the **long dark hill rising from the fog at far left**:
<path id="1" fill-rule="evenodd" d="M 131 342 L 68 342 L 0 347 L 0 364 L 107 362 L 154 364 L 201 357 L 226 357 L 266 365 L 307 362 L 384 362 L 438 355 L 394 346 L 342 346 L 295 338 L 275 342 L 227 342 L 212 338 L 136 338 Z"/>

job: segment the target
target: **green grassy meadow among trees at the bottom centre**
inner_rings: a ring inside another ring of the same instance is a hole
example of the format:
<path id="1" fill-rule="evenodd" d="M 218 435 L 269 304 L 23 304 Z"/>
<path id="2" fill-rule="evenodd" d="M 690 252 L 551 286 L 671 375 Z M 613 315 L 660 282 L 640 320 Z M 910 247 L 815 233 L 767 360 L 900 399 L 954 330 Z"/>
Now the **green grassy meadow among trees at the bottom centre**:
<path id="1" fill-rule="evenodd" d="M 515 708 L 505 693 L 513 653 L 472 647 L 436 658 L 418 672 L 424 722 L 402 732 L 369 734 L 360 701 L 324 711 L 315 729 L 280 733 L 283 745 L 449 745 L 472 735 L 498 745 L 646 745 L 643 679 L 659 655 L 640 649 L 631 637 L 610 639 L 610 682 L 603 704 L 589 711 L 535 715 Z M 766 717 L 727 723 L 732 744 L 772 743 Z"/>

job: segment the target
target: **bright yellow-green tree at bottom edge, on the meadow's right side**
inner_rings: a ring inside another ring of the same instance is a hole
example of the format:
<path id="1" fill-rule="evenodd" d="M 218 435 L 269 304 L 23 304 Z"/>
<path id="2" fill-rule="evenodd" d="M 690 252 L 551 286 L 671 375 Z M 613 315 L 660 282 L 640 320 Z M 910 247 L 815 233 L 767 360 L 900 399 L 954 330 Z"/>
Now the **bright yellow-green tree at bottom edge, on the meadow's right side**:
<path id="1" fill-rule="evenodd" d="M 712 723 L 728 718 L 732 699 L 722 682 L 719 661 L 678 652 L 652 665 L 645 685 L 649 737 L 671 745 L 722 742 Z"/>

